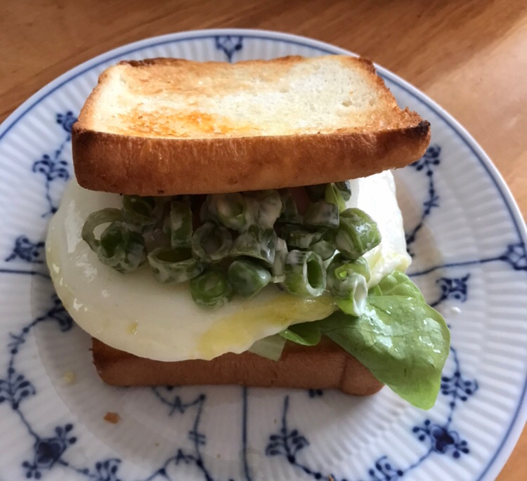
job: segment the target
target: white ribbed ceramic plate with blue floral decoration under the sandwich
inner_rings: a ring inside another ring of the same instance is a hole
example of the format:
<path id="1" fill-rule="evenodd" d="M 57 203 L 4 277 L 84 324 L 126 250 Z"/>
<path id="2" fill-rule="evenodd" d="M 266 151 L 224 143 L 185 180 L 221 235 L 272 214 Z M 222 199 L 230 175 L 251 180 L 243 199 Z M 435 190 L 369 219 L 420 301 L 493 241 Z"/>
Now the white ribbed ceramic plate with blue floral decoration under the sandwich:
<path id="1" fill-rule="evenodd" d="M 98 74 L 121 59 L 238 61 L 349 53 L 273 32 L 211 30 L 118 48 L 33 95 L 0 128 L 0 481 L 493 480 L 526 420 L 526 230 L 486 154 L 441 107 L 379 67 L 431 147 L 396 173 L 410 272 L 452 328 L 438 402 L 390 390 L 110 388 L 44 267 L 72 176 L 70 131 Z M 117 412 L 117 424 L 104 421 Z"/>

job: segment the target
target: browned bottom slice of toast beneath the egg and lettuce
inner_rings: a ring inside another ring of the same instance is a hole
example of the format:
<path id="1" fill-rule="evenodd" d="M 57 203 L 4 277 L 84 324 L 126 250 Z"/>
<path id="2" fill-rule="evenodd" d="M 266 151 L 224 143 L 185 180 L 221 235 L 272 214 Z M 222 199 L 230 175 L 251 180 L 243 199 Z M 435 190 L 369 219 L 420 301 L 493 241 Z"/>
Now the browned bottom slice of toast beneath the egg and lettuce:
<path id="1" fill-rule="evenodd" d="M 279 361 L 252 352 L 231 352 L 211 361 L 161 362 L 117 350 L 93 338 L 93 364 L 112 386 L 237 384 L 261 388 L 339 389 L 372 395 L 383 384 L 353 356 L 327 338 L 306 347 L 287 342 Z"/>

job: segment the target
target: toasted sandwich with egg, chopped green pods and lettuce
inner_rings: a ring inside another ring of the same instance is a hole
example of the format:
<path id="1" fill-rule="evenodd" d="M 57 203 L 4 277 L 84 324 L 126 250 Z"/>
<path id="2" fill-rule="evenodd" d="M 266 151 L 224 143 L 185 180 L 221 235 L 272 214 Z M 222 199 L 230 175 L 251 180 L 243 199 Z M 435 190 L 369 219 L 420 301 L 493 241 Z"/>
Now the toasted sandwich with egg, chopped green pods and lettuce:
<path id="1" fill-rule="evenodd" d="M 119 62 L 72 129 L 46 239 L 115 386 L 240 384 L 422 409 L 450 334 L 405 275 L 391 169 L 430 126 L 363 58 Z"/>

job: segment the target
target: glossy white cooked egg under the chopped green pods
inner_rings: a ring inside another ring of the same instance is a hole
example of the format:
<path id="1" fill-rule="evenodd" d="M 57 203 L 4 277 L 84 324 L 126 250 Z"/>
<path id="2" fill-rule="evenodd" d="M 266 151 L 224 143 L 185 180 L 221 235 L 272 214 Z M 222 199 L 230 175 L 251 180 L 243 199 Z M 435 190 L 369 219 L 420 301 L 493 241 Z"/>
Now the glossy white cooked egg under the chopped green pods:
<path id="1" fill-rule="evenodd" d="M 348 206 L 369 213 L 382 233 L 382 243 L 365 256 L 373 286 L 410 264 L 401 211 L 391 173 L 351 184 Z M 58 296 L 75 322 L 105 344 L 154 360 L 210 360 L 225 352 L 244 352 L 261 338 L 335 310 L 330 296 L 303 299 L 267 286 L 255 298 L 236 297 L 223 308 L 207 311 L 195 305 L 188 283 L 160 284 L 148 265 L 119 274 L 100 264 L 81 231 L 90 213 L 121 204 L 119 195 L 86 190 L 72 180 L 46 239 L 46 261 Z"/>

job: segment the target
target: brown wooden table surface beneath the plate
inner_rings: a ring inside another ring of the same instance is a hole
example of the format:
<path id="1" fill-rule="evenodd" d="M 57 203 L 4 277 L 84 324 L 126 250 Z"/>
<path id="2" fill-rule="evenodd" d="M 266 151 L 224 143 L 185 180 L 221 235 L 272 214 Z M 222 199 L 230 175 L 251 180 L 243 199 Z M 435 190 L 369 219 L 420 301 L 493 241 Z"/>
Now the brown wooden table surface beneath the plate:
<path id="1" fill-rule="evenodd" d="M 493 159 L 527 215 L 527 2 L 6 1 L 0 121 L 59 74 L 131 41 L 188 29 L 254 27 L 349 48 L 452 113 Z M 527 477 L 527 430 L 499 481 Z"/>

